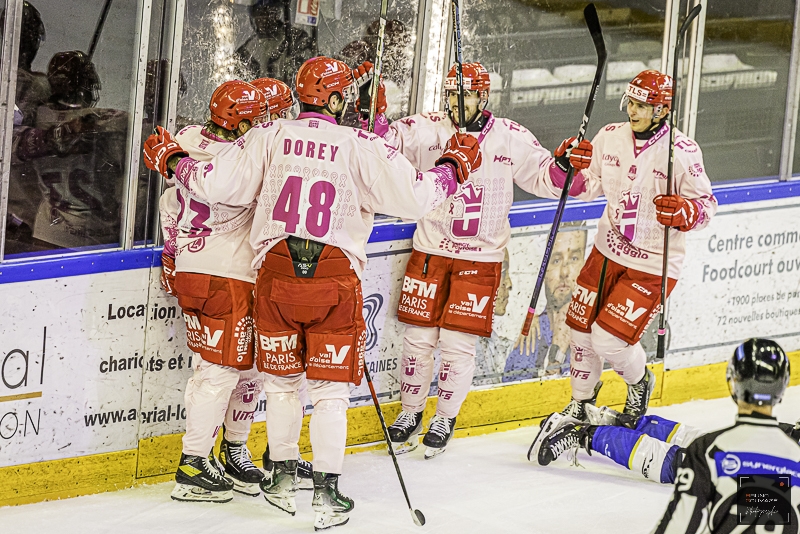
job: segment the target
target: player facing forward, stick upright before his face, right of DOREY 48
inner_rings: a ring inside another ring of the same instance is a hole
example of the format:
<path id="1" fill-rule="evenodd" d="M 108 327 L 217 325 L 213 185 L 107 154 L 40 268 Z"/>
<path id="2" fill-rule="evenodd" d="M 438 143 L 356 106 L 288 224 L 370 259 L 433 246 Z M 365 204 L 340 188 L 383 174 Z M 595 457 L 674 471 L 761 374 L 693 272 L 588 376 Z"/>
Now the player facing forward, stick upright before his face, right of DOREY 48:
<path id="1" fill-rule="evenodd" d="M 371 68 L 365 63 L 358 72 Z M 486 158 L 448 202 L 418 221 L 397 310 L 398 320 L 406 324 L 400 374 L 403 410 L 389 427 L 389 435 L 400 453 L 419 445 L 433 378 L 433 351 L 437 345 L 441 349 L 436 414 L 423 440 L 426 458 L 444 452 L 452 438 L 475 372 L 478 336 L 492 333 L 503 250 L 511 235 L 508 212 L 514 184 L 539 194 L 543 180 L 538 176 L 547 175 L 553 161 L 525 127 L 485 109 L 489 73 L 480 63 L 464 64 L 462 71 L 467 135 L 474 136 Z M 432 165 L 457 131 L 455 66 L 447 75 L 445 93 L 447 111 L 406 117 L 385 133 L 387 142 L 417 167 Z M 376 125 L 383 124 L 379 117 Z M 588 141 L 580 150 L 591 157 Z M 573 165 L 583 168 L 588 159 L 577 158 L 577 152 Z"/>

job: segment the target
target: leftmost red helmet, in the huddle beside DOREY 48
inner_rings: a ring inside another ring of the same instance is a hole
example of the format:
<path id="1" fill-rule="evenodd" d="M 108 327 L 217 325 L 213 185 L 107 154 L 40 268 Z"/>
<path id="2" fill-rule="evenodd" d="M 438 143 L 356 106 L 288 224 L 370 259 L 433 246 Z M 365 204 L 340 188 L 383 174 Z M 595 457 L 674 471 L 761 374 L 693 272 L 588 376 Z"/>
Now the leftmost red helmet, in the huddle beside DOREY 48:
<path id="1" fill-rule="evenodd" d="M 243 120 L 251 125 L 261 122 L 267 116 L 267 98 L 253 85 L 241 80 L 225 82 L 214 90 L 211 102 L 211 122 L 235 130 Z"/>

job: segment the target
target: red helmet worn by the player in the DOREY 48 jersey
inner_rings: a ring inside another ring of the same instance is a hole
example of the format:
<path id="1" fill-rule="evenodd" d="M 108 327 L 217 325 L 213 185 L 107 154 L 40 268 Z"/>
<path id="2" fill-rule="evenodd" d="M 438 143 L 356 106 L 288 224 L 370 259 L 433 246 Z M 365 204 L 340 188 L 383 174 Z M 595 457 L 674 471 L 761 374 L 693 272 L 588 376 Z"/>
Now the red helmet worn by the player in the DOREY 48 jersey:
<path id="1" fill-rule="evenodd" d="M 353 70 L 343 61 L 324 56 L 312 57 L 297 71 L 297 97 L 311 106 L 327 106 L 338 93 L 345 102 L 355 102 L 358 87 Z"/>

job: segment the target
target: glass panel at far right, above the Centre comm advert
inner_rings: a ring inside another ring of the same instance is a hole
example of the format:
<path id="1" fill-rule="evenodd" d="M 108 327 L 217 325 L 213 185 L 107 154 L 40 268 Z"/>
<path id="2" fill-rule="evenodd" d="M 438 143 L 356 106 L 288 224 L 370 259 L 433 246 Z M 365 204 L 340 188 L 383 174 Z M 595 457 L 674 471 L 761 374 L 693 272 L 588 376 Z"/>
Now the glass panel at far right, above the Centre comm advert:
<path id="1" fill-rule="evenodd" d="M 695 139 L 712 181 L 777 176 L 792 0 L 709 0 Z"/>

